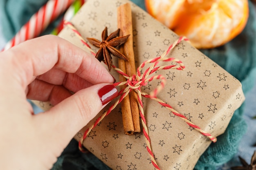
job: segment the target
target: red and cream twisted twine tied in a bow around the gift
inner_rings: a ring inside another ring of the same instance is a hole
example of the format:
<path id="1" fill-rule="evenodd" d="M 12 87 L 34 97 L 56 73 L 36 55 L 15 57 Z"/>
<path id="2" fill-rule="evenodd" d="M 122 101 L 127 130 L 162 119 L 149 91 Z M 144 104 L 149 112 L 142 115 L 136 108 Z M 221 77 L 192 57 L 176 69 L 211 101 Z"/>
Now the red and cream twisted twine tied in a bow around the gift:
<path id="1" fill-rule="evenodd" d="M 72 31 L 74 31 L 76 33 L 76 35 L 78 35 L 79 39 L 81 40 L 81 42 L 83 44 L 85 44 L 85 46 L 90 50 L 90 52 L 95 55 L 94 51 L 92 51 L 92 49 L 90 48 L 90 46 L 86 43 L 86 41 L 82 38 L 81 34 L 74 28 L 74 26 L 70 23 L 70 22 L 65 22 L 66 25 L 70 26 L 70 28 L 72 29 Z M 164 88 L 165 84 L 166 84 L 166 78 L 162 75 L 154 75 L 152 77 L 149 77 L 149 75 L 151 75 L 152 73 L 155 73 L 155 71 L 160 71 L 160 70 L 167 70 L 167 69 L 177 69 L 177 70 L 183 70 L 185 68 L 184 64 L 180 61 L 177 60 L 173 57 L 166 57 L 166 55 L 168 55 L 172 49 L 174 49 L 174 47 L 179 44 L 181 41 L 187 41 L 188 39 L 185 37 L 180 37 L 178 40 L 176 40 L 173 44 L 171 44 L 171 46 L 168 47 L 168 49 L 159 57 L 155 57 L 153 59 L 147 60 L 145 62 L 143 62 L 138 68 L 137 68 L 137 73 L 136 75 L 132 75 L 131 77 L 129 77 L 126 73 L 124 73 L 121 69 L 112 66 L 117 73 L 123 75 L 127 81 L 125 82 L 117 82 L 114 83 L 114 86 L 123 86 L 123 85 L 127 85 L 126 88 L 122 89 L 118 95 L 120 95 L 120 98 L 112 105 L 110 106 L 110 108 L 103 113 L 103 115 L 101 115 L 101 117 L 99 117 L 92 126 L 90 126 L 87 130 L 85 130 L 83 137 L 80 139 L 79 141 L 79 149 L 81 151 L 84 150 L 83 148 L 83 141 L 85 140 L 85 138 L 89 135 L 90 131 L 97 126 L 97 124 L 104 119 L 104 117 L 106 117 L 108 114 L 110 114 L 110 112 L 119 104 L 121 103 L 121 101 L 124 99 L 124 97 L 126 97 L 130 91 L 134 90 L 137 93 L 137 97 L 138 97 L 138 102 L 139 102 L 139 114 L 141 117 L 141 123 L 143 126 L 143 133 L 144 133 L 144 137 L 146 138 L 146 149 L 150 155 L 150 159 L 151 162 L 153 164 L 153 166 L 157 169 L 160 170 L 159 166 L 157 166 L 157 163 L 155 161 L 154 158 L 154 154 L 152 152 L 151 149 L 151 145 L 150 145 L 150 137 L 148 136 L 148 128 L 146 126 L 146 119 L 144 116 L 144 110 L 143 110 L 143 103 L 142 103 L 142 96 L 146 97 L 146 98 L 150 98 L 153 99 L 155 101 L 157 101 L 159 104 L 161 104 L 162 106 L 164 106 L 165 108 L 167 108 L 168 110 L 171 111 L 171 113 L 173 113 L 174 115 L 180 117 L 181 119 L 183 119 L 189 126 L 191 126 L 192 128 L 194 128 L 195 130 L 197 130 L 198 132 L 200 132 L 202 135 L 207 136 L 211 141 L 216 142 L 217 139 L 216 137 L 211 136 L 211 134 L 205 132 L 204 130 L 202 130 L 200 127 L 196 126 L 195 124 L 193 124 L 191 121 L 189 121 L 184 115 L 180 114 L 179 112 L 177 112 L 175 109 L 173 109 L 169 104 L 165 103 L 164 101 L 162 101 L 161 99 L 157 98 L 157 94 Z M 159 62 L 176 62 L 177 65 L 165 65 L 165 66 L 157 66 L 157 64 L 159 64 Z M 144 71 L 144 73 L 141 75 L 141 69 L 144 68 L 144 66 L 146 64 L 151 64 L 151 66 L 149 68 L 146 69 L 146 71 Z M 141 91 L 141 86 L 146 86 L 146 84 L 148 84 L 148 82 L 151 82 L 153 80 L 156 79 L 160 79 L 161 83 L 159 86 L 157 86 L 152 92 L 150 92 L 150 94 L 142 92 Z"/>

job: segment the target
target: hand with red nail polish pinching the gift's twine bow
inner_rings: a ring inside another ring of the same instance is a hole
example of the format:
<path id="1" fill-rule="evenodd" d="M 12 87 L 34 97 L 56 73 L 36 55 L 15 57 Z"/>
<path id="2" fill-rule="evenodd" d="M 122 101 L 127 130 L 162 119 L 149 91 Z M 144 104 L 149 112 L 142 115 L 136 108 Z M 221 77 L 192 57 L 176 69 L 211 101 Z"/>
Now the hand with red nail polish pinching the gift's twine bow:
<path id="1" fill-rule="evenodd" d="M 0 82 L 4 170 L 52 168 L 76 132 L 117 96 L 113 77 L 95 57 L 54 35 L 0 53 Z M 33 115 L 27 98 L 54 107 Z"/>

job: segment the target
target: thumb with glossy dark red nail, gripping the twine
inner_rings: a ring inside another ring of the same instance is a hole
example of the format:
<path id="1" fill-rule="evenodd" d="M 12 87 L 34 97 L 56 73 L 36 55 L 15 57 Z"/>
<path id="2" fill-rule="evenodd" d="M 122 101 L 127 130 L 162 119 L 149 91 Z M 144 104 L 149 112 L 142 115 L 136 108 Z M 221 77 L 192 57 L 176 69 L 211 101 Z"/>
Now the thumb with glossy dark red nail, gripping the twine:
<path id="1" fill-rule="evenodd" d="M 48 131 L 48 141 L 65 148 L 74 135 L 117 95 L 117 88 L 106 83 L 78 91 L 49 111 L 36 115 L 40 126 L 44 126 L 38 129 Z"/>

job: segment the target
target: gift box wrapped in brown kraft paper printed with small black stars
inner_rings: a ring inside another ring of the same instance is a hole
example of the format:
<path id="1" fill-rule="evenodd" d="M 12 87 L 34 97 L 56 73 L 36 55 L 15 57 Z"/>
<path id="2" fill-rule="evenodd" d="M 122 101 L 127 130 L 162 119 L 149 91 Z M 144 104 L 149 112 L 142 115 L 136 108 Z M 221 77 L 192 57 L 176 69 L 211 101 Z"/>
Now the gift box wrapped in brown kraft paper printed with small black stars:
<path id="1" fill-rule="evenodd" d="M 141 63 L 162 55 L 179 37 L 132 2 L 88 0 L 71 23 L 83 38 L 101 40 L 101 32 L 105 27 L 108 27 L 109 33 L 117 30 L 117 7 L 125 3 L 130 3 L 132 7 L 133 49 L 138 67 Z M 69 26 L 58 36 L 90 53 Z M 98 49 L 92 46 L 92 50 L 97 52 Z M 185 68 L 161 70 L 152 74 L 166 78 L 166 86 L 157 97 L 205 132 L 215 137 L 221 135 L 234 111 L 245 99 L 240 82 L 187 41 L 183 40 L 175 45 L 167 57 L 181 60 Z M 118 67 L 115 57 L 113 64 Z M 175 62 L 170 64 L 177 65 Z M 141 73 L 145 70 L 143 68 Z M 111 74 L 118 81 L 118 73 L 112 69 Z M 161 80 L 148 82 L 141 87 L 141 91 L 150 93 L 160 84 Z M 101 110 L 74 138 L 79 141 L 85 130 L 114 102 Z M 142 102 L 151 155 L 154 156 L 157 166 L 161 170 L 193 169 L 212 141 L 155 100 L 142 98 Z M 38 104 L 45 110 L 49 109 L 47 104 Z M 90 131 L 83 146 L 115 170 L 157 169 L 147 150 L 143 130 L 136 135 L 124 134 L 120 105 Z"/>

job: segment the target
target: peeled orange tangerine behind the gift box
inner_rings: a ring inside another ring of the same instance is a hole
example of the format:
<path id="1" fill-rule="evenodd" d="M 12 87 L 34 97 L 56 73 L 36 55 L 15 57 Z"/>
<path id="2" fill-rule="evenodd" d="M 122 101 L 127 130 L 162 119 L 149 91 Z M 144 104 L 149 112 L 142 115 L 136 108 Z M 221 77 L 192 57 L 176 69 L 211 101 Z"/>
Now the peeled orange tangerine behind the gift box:
<path id="1" fill-rule="evenodd" d="M 145 0 L 150 15 L 198 49 L 229 42 L 243 31 L 248 0 Z"/>

